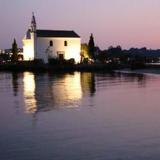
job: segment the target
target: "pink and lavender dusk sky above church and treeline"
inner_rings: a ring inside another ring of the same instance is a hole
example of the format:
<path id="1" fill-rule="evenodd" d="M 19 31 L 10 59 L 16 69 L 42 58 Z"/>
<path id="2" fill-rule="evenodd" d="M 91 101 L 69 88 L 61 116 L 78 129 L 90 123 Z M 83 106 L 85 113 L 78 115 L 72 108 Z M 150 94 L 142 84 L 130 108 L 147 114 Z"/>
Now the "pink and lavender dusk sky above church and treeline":
<path id="1" fill-rule="evenodd" d="M 0 0 L 0 48 L 11 48 L 30 26 L 74 30 L 88 43 L 91 33 L 101 49 L 120 45 L 160 48 L 160 0 Z"/>

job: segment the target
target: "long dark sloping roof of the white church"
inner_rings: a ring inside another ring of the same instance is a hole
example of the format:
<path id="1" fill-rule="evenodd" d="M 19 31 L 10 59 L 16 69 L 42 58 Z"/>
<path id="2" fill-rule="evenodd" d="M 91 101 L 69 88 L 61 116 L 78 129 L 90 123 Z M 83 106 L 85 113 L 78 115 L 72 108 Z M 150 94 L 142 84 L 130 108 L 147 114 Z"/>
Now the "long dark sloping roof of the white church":
<path id="1" fill-rule="evenodd" d="M 74 31 L 65 30 L 37 30 L 37 37 L 66 37 L 79 38 L 80 36 Z"/>

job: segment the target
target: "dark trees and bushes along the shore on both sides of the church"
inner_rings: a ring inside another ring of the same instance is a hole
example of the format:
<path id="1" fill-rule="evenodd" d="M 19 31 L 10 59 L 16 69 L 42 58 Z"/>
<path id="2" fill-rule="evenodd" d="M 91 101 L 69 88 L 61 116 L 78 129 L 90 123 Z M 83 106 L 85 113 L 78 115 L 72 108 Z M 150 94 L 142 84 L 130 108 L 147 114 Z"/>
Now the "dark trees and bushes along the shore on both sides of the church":
<path id="1" fill-rule="evenodd" d="M 160 63 L 160 49 L 151 50 L 145 47 L 143 48 L 130 48 L 129 50 L 122 49 L 121 46 L 110 46 L 108 49 L 100 50 L 99 47 L 95 46 L 93 34 L 91 34 L 88 44 L 84 43 L 81 45 L 81 64 L 74 65 L 75 60 L 73 58 L 69 60 L 61 59 L 49 59 L 49 65 L 43 63 L 43 60 L 34 60 L 33 62 L 21 61 L 23 56 L 22 49 L 18 49 L 16 40 L 14 39 L 12 49 L 3 50 L 0 52 L 0 63 L 1 68 L 9 67 L 12 69 L 14 66 L 19 68 L 34 68 L 41 67 L 46 68 L 76 68 L 88 69 L 88 70 L 103 70 L 114 69 L 114 68 L 142 68 L 146 66 L 146 63 Z M 18 61 L 19 60 L 19 61 Z M 91 65 L 90 65 L 91 64 Z M 8 65 L 8 66 L 7 66 Z M 147 64 L 148 65 L 148 64 Z"/>

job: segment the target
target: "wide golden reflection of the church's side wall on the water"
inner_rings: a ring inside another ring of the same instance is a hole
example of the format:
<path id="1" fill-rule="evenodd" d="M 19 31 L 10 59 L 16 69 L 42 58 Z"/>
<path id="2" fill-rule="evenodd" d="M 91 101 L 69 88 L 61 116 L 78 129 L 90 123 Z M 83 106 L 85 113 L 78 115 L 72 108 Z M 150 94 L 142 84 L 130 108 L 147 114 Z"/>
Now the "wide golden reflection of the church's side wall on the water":
<path id="1" fill-rule="evenodd" d="M 54 103 L 66 108 L 78 107 L 77 102 L 82 98 L 80 73 L 65 75 L 60 83 L 52 85 L 52 95 L 56 97 Z"/>

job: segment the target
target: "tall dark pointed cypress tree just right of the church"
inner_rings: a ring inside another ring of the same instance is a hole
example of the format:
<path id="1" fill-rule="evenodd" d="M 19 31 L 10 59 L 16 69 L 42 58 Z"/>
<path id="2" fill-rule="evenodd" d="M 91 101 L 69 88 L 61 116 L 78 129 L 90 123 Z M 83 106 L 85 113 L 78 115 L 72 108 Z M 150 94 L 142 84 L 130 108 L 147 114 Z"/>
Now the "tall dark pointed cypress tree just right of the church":
<path id="1" fill-rule="evenodd" d="M 89 43 L 88 43 L 88 53 L 89 57 L 91 59 L 95 59 L 95 44 L 94 44 L 94 37 L 93 34 L 91 34 Z"/>

